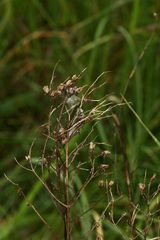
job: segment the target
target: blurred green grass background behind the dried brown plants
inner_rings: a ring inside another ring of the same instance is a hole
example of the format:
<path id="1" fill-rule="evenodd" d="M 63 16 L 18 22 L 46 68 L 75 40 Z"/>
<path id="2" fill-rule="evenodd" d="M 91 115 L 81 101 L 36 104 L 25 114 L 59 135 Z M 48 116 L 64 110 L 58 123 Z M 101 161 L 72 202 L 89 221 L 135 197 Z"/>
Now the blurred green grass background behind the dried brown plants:
<path id="1" fill-rule="evenodd" d="M 42 88 L 49 83 L 58 61 L 57 82 L 87 68 L 82 84 L 90 84 L 102 72 L 110 71 L 105 77 L 107 87 L 97 96 L 113 93 L 117 97 L 123 94 L 137 64 L 126 98 L 160 139 L 159 12 L 159 0 L 0 1 L 0 239 L 62 239 L 58 212 L 50 206 L 41 185 L 13 160 L 16 156 L 23 161 L 39 126 L 47 119 L 50 102 Z M 149 177 L 157 174 L 158 183 L 159 147 L 127 107 L 116 111 L 125 133 L 138 201 L 136 184 L 143 181 L 146 169 Z M 121 154 L 113 132 L 110 122 L 97 129 L 99 138 L 113 146 L 112 160 L 118 162 L 115 180 L 122 183 L 123 189 L 123 162 L 118 161 Z M 40 148 L 35 151 L 42 152 Z M 43 226 L 18 197 L 4 173 L 24 187 L 28 198 L 52 222 L 53 231 Z M 94 191 L 89 194 L 86 201 L 92 199 Z M 111 232 L 108 239 L 121 239 L 110 225 L 104 226 L 104 232 L 106 239 Z"/>

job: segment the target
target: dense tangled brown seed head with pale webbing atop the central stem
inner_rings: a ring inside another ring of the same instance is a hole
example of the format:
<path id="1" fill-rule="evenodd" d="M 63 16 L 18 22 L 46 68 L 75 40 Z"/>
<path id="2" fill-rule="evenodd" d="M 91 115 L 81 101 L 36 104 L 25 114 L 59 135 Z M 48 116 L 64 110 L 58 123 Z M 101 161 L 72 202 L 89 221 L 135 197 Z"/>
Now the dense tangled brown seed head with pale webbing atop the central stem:
<path id="1" fill-rule="evenodd" d="M 52 131 L 52 137 L 62 145 L 77 135 L 86 122 L 105 118 L 106 113 L 113 107 L 112 103 L 107 102 L 107 98 L 99 100 L 91 98 L 91 94 L 99 88 L 96 87 L 99 78 L 86 91 L 84 86 L 77 86 L 80 79 L 81 75 L 73 75 L 64 83 L 60 83 L 56 89 L 52 89 L 52 84 L 43 87 L 44 93 L 50 96 L 53 103 L 59 99 L 59 105 L 56 108 L 54 106 L 53 111 L 57 123 Z M 52 115 L 49 114 L 50 118 Z M 51 124 L 48 123 L 48 126 Z M 108 152 L 104 152 L 104 155 L 108 155 Z"/>

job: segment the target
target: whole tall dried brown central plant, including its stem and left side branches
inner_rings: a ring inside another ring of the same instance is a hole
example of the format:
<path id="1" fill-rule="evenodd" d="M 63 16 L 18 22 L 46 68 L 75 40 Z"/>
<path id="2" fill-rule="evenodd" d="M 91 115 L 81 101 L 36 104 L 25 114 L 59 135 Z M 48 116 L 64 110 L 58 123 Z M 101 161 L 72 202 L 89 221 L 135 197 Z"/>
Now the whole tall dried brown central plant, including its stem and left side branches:
<path id="1" fill-rule="evenodd" d="M 93 98 L 94 92 L 106 84 L 98 84 L 104 73 L 91 86 L 79 87 L 83 72 L 78 76 L 73 75 L 56 88 L 53 88 L 53 72 L 50 84 L 43 87 L 45 95 L 49 96 L 52 104 L 48 121 L 42 126 L 45 143 L 39 162 L 35 163 L 32 157 L 35 141 L 26 156 L 29 167 L 22 166 L 15 159 L 22 168 L 31 171 L 36 176 L 49 194 L 63 219 L 65 240 L 71 239 L 73 229 L 71 211 L 79 201 L 81 194 L 93 179 L 102 172 L 105 173 L 109 167 L 107 163 L 96 164 L 98 157 L 105 159 L 110 152 L 106 144 L 92 139 L 92 134 L 96 124 L 111 115 L 111 109 L 115 107 L 115 104 L 108 100 L 107 95 L 101 99 Z M 83 132 L 85 126 L 87 126 L 86 135 L 75 142 L 75 137 Z M 52 145 L 50 151 L 48 151 L 49 143 Z M 100 145 L 103 145 L 104 150 L 99 148 Z M 84 150 L 86 151 L 84 161 L 77 162 L 79 154 Z M 87 175 L 83 179 L 82 186 L 75 190 L 74 181 L 79 171 L 86 171 Z M 22 188 L 7 176 L 6 178 L 25 198 Z M 111 182 L 109 186 L 111 188 Z M 33 204 L 28 203 L 28 206 L 36 212 L 43 223 L 51 228 Z M 89 232 L 93 229 L 94 227 L 89 229 Z"/>

